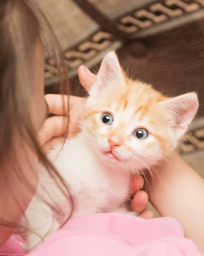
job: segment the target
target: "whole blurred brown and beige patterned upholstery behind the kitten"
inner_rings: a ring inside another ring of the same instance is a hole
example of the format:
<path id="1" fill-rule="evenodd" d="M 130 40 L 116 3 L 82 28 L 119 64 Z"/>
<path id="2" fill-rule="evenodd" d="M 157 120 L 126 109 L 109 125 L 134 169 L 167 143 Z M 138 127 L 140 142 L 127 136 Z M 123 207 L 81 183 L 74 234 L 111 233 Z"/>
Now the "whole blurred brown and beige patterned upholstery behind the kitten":
<path id="1" fill-rule="evenodd" d="M 198 116 L 179 150 L 204 177 L 204 0 L 38 1 L 63 47 L 72 94 L 86 95 L 78 67 L 97 72 L 112 49 L 129 76 L 162 92 L 198 92 Z M 45 57 L 45 90 L 57 93 L 55 63 Z"/>

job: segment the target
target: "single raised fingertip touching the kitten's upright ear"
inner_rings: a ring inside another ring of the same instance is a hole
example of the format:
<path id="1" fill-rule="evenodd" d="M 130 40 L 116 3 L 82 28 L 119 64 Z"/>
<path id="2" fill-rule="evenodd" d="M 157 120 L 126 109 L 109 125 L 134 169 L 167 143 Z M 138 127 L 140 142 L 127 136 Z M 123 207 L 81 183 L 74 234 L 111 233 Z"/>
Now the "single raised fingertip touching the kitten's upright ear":
<path id="1" fill-rule="evenodd" d="M 81 85 L 89 92 L 96 82 L 96 75 L 85 66 L 80 66 L 78 69 L 78 76 Z"/>

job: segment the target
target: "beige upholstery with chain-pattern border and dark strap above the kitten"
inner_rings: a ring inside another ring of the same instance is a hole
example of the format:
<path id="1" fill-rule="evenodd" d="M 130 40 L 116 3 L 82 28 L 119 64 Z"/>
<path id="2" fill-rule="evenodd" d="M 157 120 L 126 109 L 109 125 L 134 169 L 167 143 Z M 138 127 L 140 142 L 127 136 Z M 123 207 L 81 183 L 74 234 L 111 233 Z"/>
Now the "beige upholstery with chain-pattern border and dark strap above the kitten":
<path id="1" fill-rule="evenodd" d="M 71 77 L 80 64 L 91 68 L 111 49 L 204 18 L 203 0 L 38 1 L 63 47 Z M 58 73 L 55 62 L 46 57 L 45 84 L 49 86 L 58 81 Z"/>

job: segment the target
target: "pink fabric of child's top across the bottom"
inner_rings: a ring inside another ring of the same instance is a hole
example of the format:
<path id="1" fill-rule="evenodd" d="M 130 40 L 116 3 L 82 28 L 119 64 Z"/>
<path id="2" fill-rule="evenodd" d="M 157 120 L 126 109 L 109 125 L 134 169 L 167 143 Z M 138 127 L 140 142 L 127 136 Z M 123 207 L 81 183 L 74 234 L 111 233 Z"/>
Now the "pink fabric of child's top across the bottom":
<path id="1" fill-rule="evenodd" d="M 0 253 L 1 255 L 1 253 Z M 202 256 L 173 218 L 116 213 L 69 221 L 29 256 Z"/>

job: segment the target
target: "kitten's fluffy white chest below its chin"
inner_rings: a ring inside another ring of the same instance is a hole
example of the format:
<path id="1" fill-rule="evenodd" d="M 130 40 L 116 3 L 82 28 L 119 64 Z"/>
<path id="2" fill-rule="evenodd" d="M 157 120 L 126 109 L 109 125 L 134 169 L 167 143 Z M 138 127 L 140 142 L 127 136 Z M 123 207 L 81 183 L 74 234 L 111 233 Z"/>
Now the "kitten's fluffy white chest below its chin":
<path id="1" fill-rule="evenodd" d="M 105 165 L 99 163 L 86 146 L 82 134 L 67 140 L 59 154 L 60 148 L 61 145 L 51 151 L 49 158 L 54 160 L 58 172 L 68 183 L 75 199 L 74 217 L 112 212 L 128 198 L 128 176 L 118 170 L 108 170 Z M 45 181 L 43 175 L 40 175 L 42 182 Z M 52 193 L 52 198 L 58 202 L 58 189 L 51 179 L 47 180 L 46 187 Z"/>

